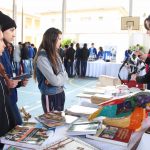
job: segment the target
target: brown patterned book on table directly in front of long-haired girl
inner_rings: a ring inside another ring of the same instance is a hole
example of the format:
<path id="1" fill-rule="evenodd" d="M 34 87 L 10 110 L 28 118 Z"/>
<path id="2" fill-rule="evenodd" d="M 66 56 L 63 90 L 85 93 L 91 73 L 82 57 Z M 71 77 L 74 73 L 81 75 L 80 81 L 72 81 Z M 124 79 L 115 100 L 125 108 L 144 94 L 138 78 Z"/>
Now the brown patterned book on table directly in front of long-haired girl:
<path id="1" fill-rule="evenodd" d="M 61 126 L 65 124 L 65 118 L 55 113 L 42 114 L 40 116 L 35 117 L 35 119 L 48 128 Z"/>

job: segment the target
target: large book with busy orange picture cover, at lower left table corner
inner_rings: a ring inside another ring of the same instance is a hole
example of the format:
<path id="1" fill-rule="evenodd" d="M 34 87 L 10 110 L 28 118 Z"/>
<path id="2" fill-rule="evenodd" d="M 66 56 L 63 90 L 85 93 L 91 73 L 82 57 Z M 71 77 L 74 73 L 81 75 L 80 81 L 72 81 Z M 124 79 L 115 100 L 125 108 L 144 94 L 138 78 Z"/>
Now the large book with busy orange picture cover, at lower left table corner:
<path id="1" fill-rule="evenodd" d="M 43 149 L 47 139 L 47 130 L 16 126 L 1 138 L 1 143 L 28 149 Z"/>

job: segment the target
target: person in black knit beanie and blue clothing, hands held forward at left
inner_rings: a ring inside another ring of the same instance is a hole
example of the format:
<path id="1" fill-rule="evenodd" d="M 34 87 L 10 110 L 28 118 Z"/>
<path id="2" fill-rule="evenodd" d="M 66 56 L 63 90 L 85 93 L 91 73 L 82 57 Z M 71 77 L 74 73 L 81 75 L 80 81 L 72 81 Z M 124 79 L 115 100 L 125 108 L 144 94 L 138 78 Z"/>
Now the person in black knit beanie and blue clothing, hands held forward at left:
<path id="1" fill-rule="evenodd" d="M 3 39 L 5 45 L 7 46 L 7 43 L 11 43 L 15 38 L 16 23 L 9 16 L 0 12 L 0 24 L 2 26 Z M 4 52 L 0 57 L 0 63 L 4 66 L 5 72 L 9 78 L 9 80 L 7 80 L 7 86 L 10 89 L 9 98 L 10 98 L 11 107 L 15 114 L 16 122 L 18 125 L 21 125 L 22 118 L 17 106 L 17 101 L 18 101 L 17 87 L 25 86 L 28 80 L 19 81 L 19 80 L 11 79 L 13 77 L 13 68 L 12 68 L 10 54 L 7 47 L 5 47 Z"/>

